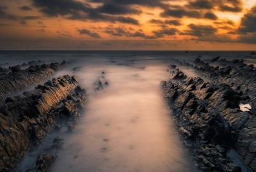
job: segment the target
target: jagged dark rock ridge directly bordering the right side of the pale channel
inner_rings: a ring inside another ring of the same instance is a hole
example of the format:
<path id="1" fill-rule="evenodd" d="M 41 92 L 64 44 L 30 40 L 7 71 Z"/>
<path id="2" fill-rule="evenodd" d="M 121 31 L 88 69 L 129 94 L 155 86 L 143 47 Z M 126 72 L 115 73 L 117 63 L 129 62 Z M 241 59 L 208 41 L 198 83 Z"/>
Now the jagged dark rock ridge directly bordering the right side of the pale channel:
<path id="1" fill-rule="evenodd" d="M 236 134 L 221 111 L 209 106 L 216 89 L 201 78 L 162 82 L 163 95 L 173 110 L 182 140 L 202 171 L 241 171 L 227 157 Z M 218 98 L 217 98 L 218 100 Z"/>

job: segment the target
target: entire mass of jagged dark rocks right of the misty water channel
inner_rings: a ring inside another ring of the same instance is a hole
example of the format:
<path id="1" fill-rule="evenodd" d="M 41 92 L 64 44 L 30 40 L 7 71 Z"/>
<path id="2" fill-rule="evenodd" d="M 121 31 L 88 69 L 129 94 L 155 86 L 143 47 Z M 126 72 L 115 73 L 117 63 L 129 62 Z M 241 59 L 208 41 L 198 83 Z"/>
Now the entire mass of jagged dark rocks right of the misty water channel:
<path id="1" fill-rule="evenodd" d="M 171 76 L 162 82 L 164 98 L 198 169 L 241 171 L 227 157 L 228 150 L 234 148 L 244 163 L 256 171 L 255 68 L 241 60 L 216 57 L 210 61 L 222 67 L 210 66 L 199 58 L 188 62 L 188 66 L 211 83 L 202 78 L 175 80 Z M 252 104 L 252 110 L 241 111 L 240 103 Z"/>

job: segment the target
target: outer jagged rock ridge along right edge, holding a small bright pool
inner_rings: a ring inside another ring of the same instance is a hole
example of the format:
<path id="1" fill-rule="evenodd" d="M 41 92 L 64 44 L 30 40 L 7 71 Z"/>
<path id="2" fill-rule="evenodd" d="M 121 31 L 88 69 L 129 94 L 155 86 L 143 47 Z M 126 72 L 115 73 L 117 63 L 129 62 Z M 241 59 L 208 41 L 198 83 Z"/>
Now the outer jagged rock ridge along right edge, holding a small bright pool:
<path id="1" fill-rule="evenodd" d="M 209 106 L 221 111 L 221 116 L 227 121 L 232 133 L 236 134 L 234 150 L 256 171 L 256 68 L 244 63 L 243 59 L 228 61 L 218 58 L 209 63 L 205 61 L 207 60 L 195 59 L 189 62 L 198 75 L 211 80 L 214 92 L 207 97 Z M 250 104 L 252 109 L 241 111 L 240 103 Z"/>

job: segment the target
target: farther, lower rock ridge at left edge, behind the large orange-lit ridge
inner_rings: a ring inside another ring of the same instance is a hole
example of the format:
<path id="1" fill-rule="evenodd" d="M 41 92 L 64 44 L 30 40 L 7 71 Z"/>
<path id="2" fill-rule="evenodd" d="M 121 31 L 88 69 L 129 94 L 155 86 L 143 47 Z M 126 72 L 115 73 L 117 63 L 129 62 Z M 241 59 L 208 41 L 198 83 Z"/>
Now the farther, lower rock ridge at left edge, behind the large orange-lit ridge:
<path id="1" fill-rule="evenodd" d="M 56 71 L 63 68 L 65 61 L 61 64 L 58 62 L 51 64 L 42 64 L 40 66 L 30 66 L 22 70 L 19 66 L 10 68 L 10 73 L 2 73 L 0 75 L 0 103 L 6 97 L 20 94 L 22 90 L 28 89 L 33 85 L 38 84 L 49 76 L 53 75 Z"/>

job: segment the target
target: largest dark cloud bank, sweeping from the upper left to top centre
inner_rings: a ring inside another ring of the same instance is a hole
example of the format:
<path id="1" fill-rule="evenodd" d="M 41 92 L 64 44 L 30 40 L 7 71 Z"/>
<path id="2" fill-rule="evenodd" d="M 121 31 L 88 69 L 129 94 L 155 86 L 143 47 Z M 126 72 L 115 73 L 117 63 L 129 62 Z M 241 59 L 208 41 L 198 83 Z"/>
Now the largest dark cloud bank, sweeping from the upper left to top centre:
<path id="1" fill-rule="evenodd" d="M 139 21 L 132 17 L 116 16 L 120 14 L 140 13 L 140 11 L 127 6 L 106 4 L 99 8 L 92 8 L 88 3 L 74 0 L 33 0 L 33 5 L 42 13 L 50 17 L 67 16 L 70 20 L 94 20 L 103 22 L 121 22 L 125 24 L 139 25 Z M 110 7 L 107 9 L 106 7 Z M 121 9 L 118 9 L 120 7 Z M 111 15 L 107 15 L 111 14 Z"/>

